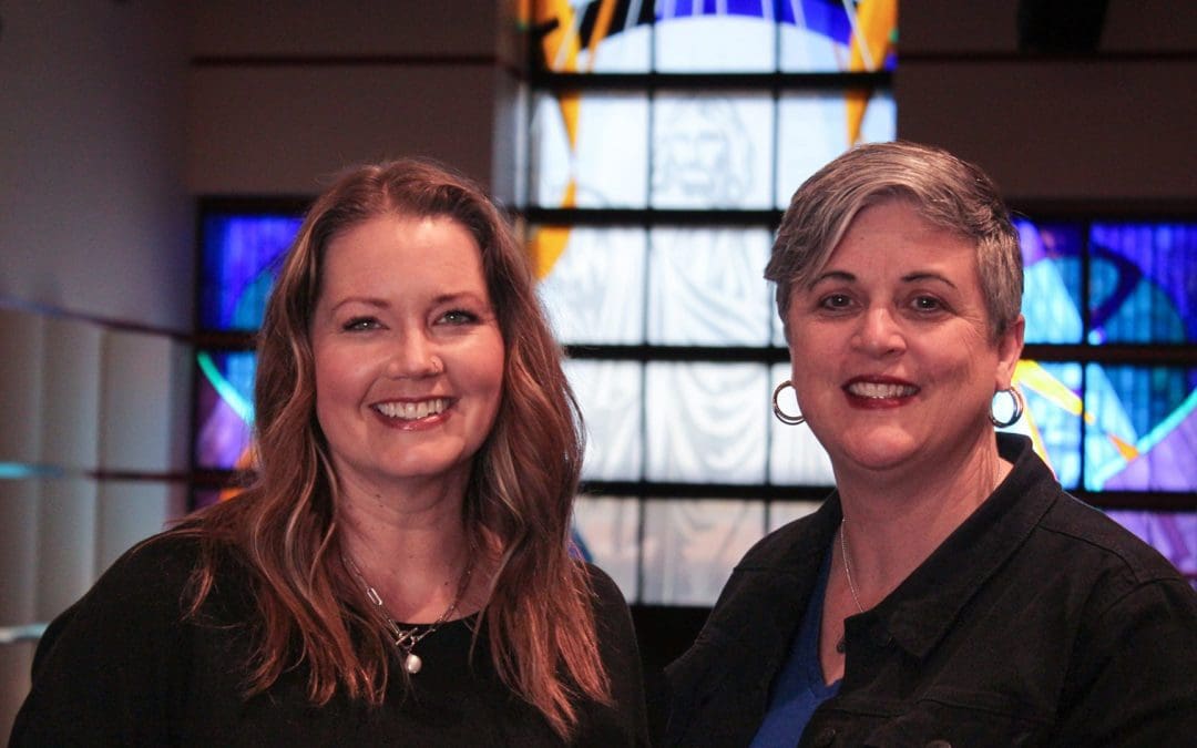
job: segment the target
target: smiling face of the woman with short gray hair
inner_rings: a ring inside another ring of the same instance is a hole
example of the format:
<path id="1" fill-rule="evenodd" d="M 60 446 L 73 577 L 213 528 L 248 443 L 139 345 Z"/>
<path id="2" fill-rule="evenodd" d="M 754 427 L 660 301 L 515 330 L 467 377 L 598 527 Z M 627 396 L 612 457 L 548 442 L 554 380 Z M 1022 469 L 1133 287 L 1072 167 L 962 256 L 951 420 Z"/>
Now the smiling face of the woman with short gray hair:
<path id="1" fill-rule="evenodd" d="M 807 422 L 845 470 L 950 466 L 992 448 L 1022 320 L 997 340 L 976 248 L 891 197 L 862 209 L 786 315 Z"/>

